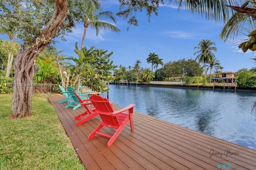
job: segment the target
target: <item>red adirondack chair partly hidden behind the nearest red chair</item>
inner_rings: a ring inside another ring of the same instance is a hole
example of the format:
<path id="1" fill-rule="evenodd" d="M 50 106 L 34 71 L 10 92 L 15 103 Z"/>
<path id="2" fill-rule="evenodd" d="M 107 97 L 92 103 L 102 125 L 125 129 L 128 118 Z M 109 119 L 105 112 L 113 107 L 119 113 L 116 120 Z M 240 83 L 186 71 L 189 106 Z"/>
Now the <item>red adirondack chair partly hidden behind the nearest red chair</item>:
<path id="1" fill-rule="evenodd" d="M 86 100 L 82 100 L 79 95 L 72 90 L 72 92 L 74 93 L 74 95 L 77 97 L 78 102 L 80 103 L 81 106 L 84 106 L 86 111 L 84 113 L 81 113 L 80 115 L 75 117 L 75 120 L 77 119 L 81 119 L 78 122 L 76 122 L 76 125 L 81 125 L 82 123 L 92 119 L 93 117 L 95 117 L 96 115 L 98 115 L 98 113 L 95 112 L 95 108 L 89 109 L 87 107 L 87 105 L 92 104 L 92 102 L 90 102 L 90 99 L 86 99 Z M 87 115 L 87 116 L 86 116 Z M 86 117 L 84 117 L 86 116 Z"/>

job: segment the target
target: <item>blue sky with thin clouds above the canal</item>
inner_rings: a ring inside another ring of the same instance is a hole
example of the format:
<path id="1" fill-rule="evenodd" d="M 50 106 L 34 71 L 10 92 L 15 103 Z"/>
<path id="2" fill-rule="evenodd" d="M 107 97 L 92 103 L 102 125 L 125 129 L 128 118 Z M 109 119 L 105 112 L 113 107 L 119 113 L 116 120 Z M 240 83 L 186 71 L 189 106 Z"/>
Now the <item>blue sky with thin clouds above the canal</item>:
<path id="1" fill-rule="evenodd" d="M 107 0 L 102 2 L 103 11 L 118 12 L 119 4 L 116 0 Z M 98 37 L 96 31 L 87 29 L 84 45 L 88 48 L 95 46 L 98 49 L 105 49 L 108 52 L 113 51 L 110 57 L 115 65 L 128 67 L 133 66 L 136 60 L 141 61 L 141 66 L 151 68 L 151 64 L 146 62 L 149 53 L 156 53 L 163 63 L 177 61 L 179 59 L 195 59 L 194 53 L 198 51 L 194 47 L 202 39 L 208 39 L 215 42 L 217 52 L 214 52 L 216 58 L 226 72 L 236 72 L 241 68 L 252 68 L 256 66 L 254 60 L 255 54 L 250 50 L 247 53 L 241 53 L 240 49 L 234 46 L 233 42 L 224 43 L 219 35 L 223 24 L 216 24 L 215 21 L 207 21 L 204 17 L 191 14 L 188 10 L 177 10 L 174 6 L 160 6 L 158 16 L 152 14 L 150 22 L 145 12 L 137 12 L 138 26 L 129 26 L 127 20 L 116 16 L 120 33 L 100 30 Z M 108 21 L 111 23 L 111 21 Z M 114 24 L 114 23 L 113 23 Z M 60 41 L 56 45 L 58 50 L 64 50 L 63 55 L 74 56 L 74 45 L 78 42 L 81 46 L 83 35 L 83 24 L 76 24 L 73 33 L 66 36 L 67 41 Z M 240 36 L 238 39 L 245 39 L 246 36 Z M 161 66 L 160 66 L 161 67 Z M 160 68 L 159 67 L 159 68 Z"/>

